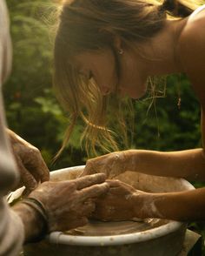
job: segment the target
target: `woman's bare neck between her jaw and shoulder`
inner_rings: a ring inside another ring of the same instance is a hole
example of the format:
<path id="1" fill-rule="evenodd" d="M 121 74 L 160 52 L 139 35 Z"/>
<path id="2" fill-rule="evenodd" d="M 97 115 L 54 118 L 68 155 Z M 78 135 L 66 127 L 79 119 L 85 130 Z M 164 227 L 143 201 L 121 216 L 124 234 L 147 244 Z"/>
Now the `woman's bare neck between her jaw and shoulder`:
<path id="1" fill-rule="evenodd" d="M 162 31 L 143 44 L 141 57 L 149 75 L 166 75 L 182 72 L 178 42 L 187 19 L 167 20 Z"/>

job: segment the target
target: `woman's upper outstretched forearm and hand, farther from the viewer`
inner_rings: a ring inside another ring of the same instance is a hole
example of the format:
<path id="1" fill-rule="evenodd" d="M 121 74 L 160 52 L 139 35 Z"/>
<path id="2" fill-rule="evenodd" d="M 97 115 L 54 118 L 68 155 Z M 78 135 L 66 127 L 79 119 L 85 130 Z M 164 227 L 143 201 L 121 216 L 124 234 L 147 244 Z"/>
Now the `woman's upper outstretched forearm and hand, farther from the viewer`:
<path id="1" fill-rule="evenodd" d="M 179 152 L 146 150 L 112 152 L 89 159 L 81 176 L 102 172 L 112 179 L 126 171 L 203 181 L 205 156 L 203 149 Z"/>

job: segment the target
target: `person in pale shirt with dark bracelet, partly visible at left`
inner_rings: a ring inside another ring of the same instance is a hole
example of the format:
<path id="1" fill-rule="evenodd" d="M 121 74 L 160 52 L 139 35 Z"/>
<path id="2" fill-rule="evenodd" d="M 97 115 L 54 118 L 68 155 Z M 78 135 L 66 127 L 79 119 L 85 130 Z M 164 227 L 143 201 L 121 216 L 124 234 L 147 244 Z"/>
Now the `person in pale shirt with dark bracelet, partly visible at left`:
<path id="1" fill-rule="evenodd" d="M 0 0 L 0 90 L 10 71 L 10 53 L 8 15 L 5 2 Z M 44 163 L 39 153 L 36 150 L 33 151 L 33 146 L 18 138 L 11 131 L 5 132 L 6 125 L 3 114 L 2 91 L 0 91 L 0 255 L 16 256 L 20 254 L 23 243 L 40 240 L 51 231 L 68 230 L 86 224 L 88 216 L 95 209 L 96 197 L 108 192 L 109 185 L 103 182 L 105 180 L 103 174 L 73 181 L 48 181 L 38 185 L 27 199 L 23 199 L 10 208 L 5 202 L 4 196 L 14 185 L 17 185 L 20 175 L 17 172 L 19 165 L 16 165 L 19 163 L 15 162 L 10 150 L 8 132 L 13 145 L 12 149 L 14 152 L 17 151 L 16 159 L 24 159 L 24 163 L 27 164 L 30 164 L 30 159 L 31 163 L 36 160 L 33 166 L 30 165 L 32 173 L 35 173 L 34 177 L 38 177 L 36 181 L 45 181 L 45 179 L 49 179 L 49 175 L 47 167 L 43 167 Z M 36 154 L 33 154 L 35 152 Z M 23 165 L 23 161 L 20 162 L 20 167 L 23 168 L 23 170 L 21 169 L 23 172 L 20 174 L 27 175 L 22 179 L 25 181 L 31 174 L 27 174 L 26 165 Z M 37 171 L 35 172 L 35 170 Z M 43 171 L 45 171 L 44 179 Z M 34 183 L 26 183 L 27 188 L 34 189 L 33 186 L 29 186 Z"/>

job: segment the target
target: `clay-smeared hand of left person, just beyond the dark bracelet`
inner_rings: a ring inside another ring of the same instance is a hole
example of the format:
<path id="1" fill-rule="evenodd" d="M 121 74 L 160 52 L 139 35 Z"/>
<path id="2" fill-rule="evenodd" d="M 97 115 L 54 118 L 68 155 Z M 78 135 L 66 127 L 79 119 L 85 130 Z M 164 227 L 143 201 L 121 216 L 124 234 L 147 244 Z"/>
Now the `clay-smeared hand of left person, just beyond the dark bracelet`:
<path id="1" fill-rule="evenodd" d="M 45 182 L 30 193 L 43 204 L 48 215 L 49 231 L 65 231 L 84 226 L 95 210 L 95 201 L 108 192 L 105 175 L 94 174 L 80 179 Z"/>

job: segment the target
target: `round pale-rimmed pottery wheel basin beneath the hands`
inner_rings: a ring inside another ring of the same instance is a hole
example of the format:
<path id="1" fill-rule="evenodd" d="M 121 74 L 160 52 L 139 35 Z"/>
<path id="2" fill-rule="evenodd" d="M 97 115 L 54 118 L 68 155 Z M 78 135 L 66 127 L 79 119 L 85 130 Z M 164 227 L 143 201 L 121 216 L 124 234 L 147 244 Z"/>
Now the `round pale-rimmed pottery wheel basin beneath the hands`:
<path id="1" fill-rule="evenodd" d="M 51 180 L 76 179 L 84 166 L 51 172 Z M 195 189 L 185 179 L 125 172 L 116 179 L 145 192 L 180 192 Z M 40 243 L 24 246 L 24 255 L 155 255 L 174 256 L 182 251 L 186 223 L 166 219 L 101 222 L 69 232 L 52 232 Z"/>

